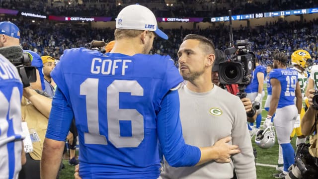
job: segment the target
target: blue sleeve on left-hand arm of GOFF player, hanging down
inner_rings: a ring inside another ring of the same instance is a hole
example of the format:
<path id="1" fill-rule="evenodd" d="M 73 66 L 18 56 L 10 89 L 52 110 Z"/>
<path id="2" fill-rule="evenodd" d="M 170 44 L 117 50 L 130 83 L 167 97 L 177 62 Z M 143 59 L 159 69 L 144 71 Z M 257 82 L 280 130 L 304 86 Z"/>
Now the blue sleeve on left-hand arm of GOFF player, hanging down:
<path id="1" fill-rule="evenodd" d="M 74 113 L 68 105 L 65 95 L 58 87 L 52 100 L 46 138 L 65 141 L 68 135 Z"/>

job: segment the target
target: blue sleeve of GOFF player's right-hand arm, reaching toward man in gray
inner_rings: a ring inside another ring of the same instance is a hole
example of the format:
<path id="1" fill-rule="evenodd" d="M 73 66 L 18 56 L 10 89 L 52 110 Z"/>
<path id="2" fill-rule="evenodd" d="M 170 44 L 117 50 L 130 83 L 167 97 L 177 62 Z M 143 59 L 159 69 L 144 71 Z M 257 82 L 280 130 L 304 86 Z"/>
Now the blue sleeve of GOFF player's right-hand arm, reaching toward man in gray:
<path id="1" fill-rule="evenodd" d="M 201 157 L 198 147 L 185 144 L 179 116 L 179 94 L 169 91 L 161 101 L 158 114 L 158 135 L 162 153 L 172 167 L 190 167 Z"/>

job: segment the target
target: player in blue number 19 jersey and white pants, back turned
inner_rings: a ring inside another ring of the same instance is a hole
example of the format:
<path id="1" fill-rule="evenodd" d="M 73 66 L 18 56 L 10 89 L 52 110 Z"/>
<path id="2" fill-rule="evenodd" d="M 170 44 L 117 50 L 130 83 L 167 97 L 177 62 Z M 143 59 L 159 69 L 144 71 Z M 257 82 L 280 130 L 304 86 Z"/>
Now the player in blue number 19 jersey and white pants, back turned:
<path id="1" fill-rule="evenodd" d="M 274 70 L 269 73 L 272 99 L 264 122 L 264 129 L 271 126 L 271 118 L 276 111 L 274 125 L 278 143 L 282 147 L 284 170 L 281 173 L 274 174 L 274 177 L 285 178 L 288 168 L 294 164 L 294 148 L 290 144 L 289 137 L 302 108 L 302 94 L 297 81 L 298 72 L 286 68 L 287 56 L 279 52 L 274 55 L 273 59 Z M 295 96 L 296 105 L 294 102 Z"/>

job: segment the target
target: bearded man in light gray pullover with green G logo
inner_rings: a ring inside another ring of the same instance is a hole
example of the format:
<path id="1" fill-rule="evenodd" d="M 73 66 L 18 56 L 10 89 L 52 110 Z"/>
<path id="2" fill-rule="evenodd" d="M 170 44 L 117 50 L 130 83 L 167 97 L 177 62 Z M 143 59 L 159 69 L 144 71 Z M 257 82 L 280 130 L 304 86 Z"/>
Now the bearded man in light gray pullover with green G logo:
<path id="1" fill-rule="evenodd" d="M 187 35 L 178 51 L 180 74 L 187 84 L 179 89 L 180 118 L 185 142 L 211 146 L 231 136 L 229 144 L 241 152 L 230 163 L 206 163 L 197 167 L 173 168 L 165 162 L 163 179 L 256 179 L 253 150 L 246 125 L 246 112 L 239 97 L 212 84 L 214 45 L 199 35 Z"/>

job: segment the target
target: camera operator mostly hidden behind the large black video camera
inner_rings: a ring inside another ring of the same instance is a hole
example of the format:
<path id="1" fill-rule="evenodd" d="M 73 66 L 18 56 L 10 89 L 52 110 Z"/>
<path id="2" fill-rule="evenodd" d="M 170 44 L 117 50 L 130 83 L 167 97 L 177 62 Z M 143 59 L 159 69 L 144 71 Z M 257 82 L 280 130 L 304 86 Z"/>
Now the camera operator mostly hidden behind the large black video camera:
<path id="1" fill-rule="evenodd" d="M 224 84 L 220 84 L 220 81 L 219 81 L 219 64 L 220 64 L 220 62 L 225 62 L 225 61 L 226 61 L 225 53 L 222 50 L 215 49 L 215 62 L 214 62 L 214 66 L 212 68 L 212 82 L 215 85 L 221 87 L 222 89 L 226 89 L 230 93 L 236 95 L 239 92 L 237 84 L 224 85 Z M 249 112 L 252 109 L 251 100 L 247 97 L 244 97 L 241 99 L 241 101 L 243 102 L 243 105 L 245 107 L 245 111 Z M 257 113 L 255 113 L 255 115 L 253 117 L 247 116 L 247 121 L 248 122 L 255 122 L 256 116 L 257 116 Z"/>

